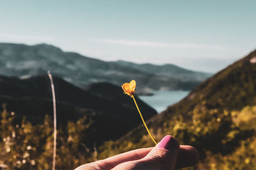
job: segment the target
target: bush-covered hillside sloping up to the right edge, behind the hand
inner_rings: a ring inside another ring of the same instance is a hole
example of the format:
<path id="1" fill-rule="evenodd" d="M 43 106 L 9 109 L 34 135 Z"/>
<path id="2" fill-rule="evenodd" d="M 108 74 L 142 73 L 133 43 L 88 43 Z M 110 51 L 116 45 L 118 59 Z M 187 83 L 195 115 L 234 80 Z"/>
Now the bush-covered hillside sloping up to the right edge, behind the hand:
<path id="1" fill-rule="evenodd" d="M 180 144 L 195 146 L 202 160 L 199 169 L 211 169 L 212 164 L 222 166 L 216 169 L 253 169 L 255 84 L 256 50 L 207 79 L 179 103 L 150 118 L 147 125 L 157 141 L 171 134 Z M 149 146 L 154 143 L 140 125 L 114 143 L 102 145 L 100 158 L 110 155 L 109 148 L 115 148 L 111 150 L 115 155 Z"/>

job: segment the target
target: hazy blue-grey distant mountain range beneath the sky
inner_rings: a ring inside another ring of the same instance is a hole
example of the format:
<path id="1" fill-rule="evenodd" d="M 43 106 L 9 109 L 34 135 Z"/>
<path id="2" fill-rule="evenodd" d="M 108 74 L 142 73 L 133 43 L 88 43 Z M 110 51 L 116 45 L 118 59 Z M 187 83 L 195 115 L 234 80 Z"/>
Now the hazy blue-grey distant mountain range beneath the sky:
<path id="1" fill-rule="evenodd" d="M 86 88 L 93 82 L 110 82 L 120 86 L 135 79 L 138 93 L 145 88 L 190 90 L 209 77 L 208 73 L 193 72 L 174 65 L 100 61 L 76 52 L 63 52 L 47 44 L 0 43 L 2 75 L 26 78 L 48 70 L 80 88 Z"/>

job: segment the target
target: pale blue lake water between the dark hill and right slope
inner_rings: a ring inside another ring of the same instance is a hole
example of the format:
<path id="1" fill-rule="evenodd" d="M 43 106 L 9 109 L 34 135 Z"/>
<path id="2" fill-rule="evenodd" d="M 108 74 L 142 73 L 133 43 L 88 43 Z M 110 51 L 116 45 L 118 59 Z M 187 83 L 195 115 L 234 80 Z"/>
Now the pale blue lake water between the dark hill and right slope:
<path id="1" fill-rule="evenodd" d="M 164 111 L 169 105 L 179 102 L 189 91 L 154 91 L 153 96 L 139 96 L 141 100 L 156 109 Z"/>

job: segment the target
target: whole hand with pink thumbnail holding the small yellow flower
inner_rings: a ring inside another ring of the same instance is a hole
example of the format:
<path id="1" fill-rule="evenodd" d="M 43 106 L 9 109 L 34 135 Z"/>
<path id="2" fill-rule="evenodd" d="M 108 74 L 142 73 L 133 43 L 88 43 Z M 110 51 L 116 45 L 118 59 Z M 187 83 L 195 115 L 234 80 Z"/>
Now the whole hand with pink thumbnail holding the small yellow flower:
<path id="1" fill-rule="evenodd" d="M 75 170 L 103 169 L 174 169 L 193 166 L 198 162 L 198 151 L 192 146 L 179 145 L 171 135 L 166 135 L 154 148 L 142 148 L 84 164 Z"/>

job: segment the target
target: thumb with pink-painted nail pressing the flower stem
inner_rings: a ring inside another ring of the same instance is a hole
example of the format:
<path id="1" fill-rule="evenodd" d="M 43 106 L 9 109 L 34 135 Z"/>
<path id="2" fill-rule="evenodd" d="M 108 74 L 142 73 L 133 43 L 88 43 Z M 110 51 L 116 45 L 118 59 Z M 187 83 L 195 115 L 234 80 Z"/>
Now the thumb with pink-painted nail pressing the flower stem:
<path id="1" fill-rule="evenodd" d="M 179 142 L 171 135 L 166 135 L 146 157 L 120 164 L 114 169 L 174 169 L 179 150 Z"/>

